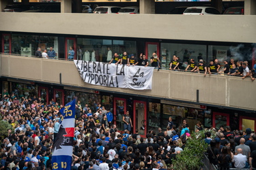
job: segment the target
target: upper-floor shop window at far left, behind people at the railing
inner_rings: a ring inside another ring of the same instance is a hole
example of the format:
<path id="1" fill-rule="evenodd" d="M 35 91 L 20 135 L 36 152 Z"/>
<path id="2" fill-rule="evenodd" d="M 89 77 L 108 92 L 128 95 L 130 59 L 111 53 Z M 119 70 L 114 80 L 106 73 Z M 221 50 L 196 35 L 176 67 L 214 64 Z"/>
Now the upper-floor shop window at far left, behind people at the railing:
<path id="1" fill-rule="evenodd" d="M 12 54 L 23 56 L 34 56 L 35 51 L 50 50 L 53 47 L 58 56 L 58 37 L 38 36 L 38 35 L 12 35 Z M 56 56 L 56 57 L 57 57 Z"/>

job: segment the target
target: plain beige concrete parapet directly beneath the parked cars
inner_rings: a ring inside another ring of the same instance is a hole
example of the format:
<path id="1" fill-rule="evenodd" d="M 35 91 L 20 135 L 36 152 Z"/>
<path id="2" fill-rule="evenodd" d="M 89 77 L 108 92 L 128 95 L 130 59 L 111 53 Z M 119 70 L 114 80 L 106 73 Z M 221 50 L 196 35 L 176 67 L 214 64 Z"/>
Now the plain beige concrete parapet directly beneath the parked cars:
<path id="1" fill-rule="evenodd" d="M 35 24 L 38 20 L 45 19 L 48 24 Z M 185 16 L 0 12 L 0 23 L 3 23 L 0 31 L 135 37 L 160 39 L 160 41 L 177 39 L 255 43 L 255 20 L 256 15 Z M 118 26 L 114 27 L 114 25 Z"/>

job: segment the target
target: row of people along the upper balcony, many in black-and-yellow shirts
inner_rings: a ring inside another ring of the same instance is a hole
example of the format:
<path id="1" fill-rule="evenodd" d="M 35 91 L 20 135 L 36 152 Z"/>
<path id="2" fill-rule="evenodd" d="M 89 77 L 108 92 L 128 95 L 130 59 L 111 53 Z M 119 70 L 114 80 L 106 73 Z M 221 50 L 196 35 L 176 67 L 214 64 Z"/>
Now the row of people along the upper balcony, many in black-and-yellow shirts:
<path id="1" fill-rule="evenodd" d="M 109 50 L 111 51 L 111 50 Z M 68 59 L 74 59 L 74 50 L 72 46 L 70 46 L 70 50 L 68 51 Z M 53 50 L 53 48 L 50 48 L 50 50 L 41 50 L 41 48 L 38 48 L 38 50 L 35 52 L 36 57 L 42 57 L 42 58 L 55 58 L 56 53 Z M 86 59 L 86 58 L 82 58 Z M 87 58 L 88 59 L 88 58 Z M 191 71 L 191 72 L 198 72 L 203 73 L 206 75 L 209 74 L 224 74 L 224 75 L 236 75 L 236 76 L 242 76 L 242 79 L 244 78 L 251 78 L 252 81 L 256 78 L 256 64 L 253 66 L 253 68 L 249 69 L 248 67 L 248 61 L 235 61 L 233 58 L 230 60 L 223 61 L 224 67 L 222 68 L 221 63 L 219 63 L 218 59 L 210 60 L 209 64 L 205 63 L 203 61 L 203 58 L 197 58 L 199 62 L 196 62 L 194 58 L 185 58 L 185 60 L 181 60 L 179 56 L 173 55 L 173 58 L 171 59 L 171 62 L 169 63 L 169 69 L 173 71 Z M 96 61 L 92 60 L 91 61 Z M 139 57 L 137 58 L 134 56 L 134 54 L 128 55 L 127 52 L 124 52 L 123 54 L 117 54 L 115 53 L 112 56 L 112 52 L 108 57 L 106 58 L 107 63 L 115 63 L 120 65 L 141 65 L 144 67 L 155 67 L 160 69 L 161 67 L 161 61 L 156 52 L 153 52 L 152 56 L 147 59 L 147 56 L 145 54 L 141 53 Z M 186 67 L 184 66 L 184 63 L 188 63 Z"/>

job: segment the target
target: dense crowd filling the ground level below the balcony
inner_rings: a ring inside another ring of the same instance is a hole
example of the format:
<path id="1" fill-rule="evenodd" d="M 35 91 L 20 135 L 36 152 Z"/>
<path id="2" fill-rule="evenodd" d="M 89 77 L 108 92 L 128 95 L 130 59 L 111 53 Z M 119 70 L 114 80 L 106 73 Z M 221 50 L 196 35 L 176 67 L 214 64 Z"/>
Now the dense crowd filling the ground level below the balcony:
<path id="1" fill-rule="evenodd" d="M 63 117 L 59 112 L 63 105 L 54 100 L 46 105 L 40 97 L 18 99 L 6 90 L 0 98 L 1 121 L 8 122 L 13 128 L 8 129 L 8 135 L 1 140 L 1 169 L 52 169 L 52 146 Z M 75 115 L 74 170 L 168 169 L 190 138 L 186 120 L 176 127 L 169 117 L 166 131 L 159 128 L 158 131 L 140 135 L 139 129 L 131 131 L 129 112 L 123 114 L 123 133 L 113 124 L 109 108 L 100 104 L 82 106 L 77 100 Z M 195 131 L 203 131 L 201 122 L 197 122 Z M 256 160 L 255 134 L 249 130 L 246 130 L 246 136 L 240 131 L 233 133 L 229 126 L 225 131 L 220 129 L 217 134 L 215 139 L 211 138 L 210 131 L 205 136 L 205 142 L 210 144 L 207 152 L 211 163 L 228 168 L 233 161 L 235 167 L 245 167 L 246 163 L 250 163 L 256 168 L 256 161 L 252 161 Z M 244 143 L 249 143 L 247 148 Z M 242 155 L 246 155 L 246 163 L 242 162 L 245 160 Z"/>

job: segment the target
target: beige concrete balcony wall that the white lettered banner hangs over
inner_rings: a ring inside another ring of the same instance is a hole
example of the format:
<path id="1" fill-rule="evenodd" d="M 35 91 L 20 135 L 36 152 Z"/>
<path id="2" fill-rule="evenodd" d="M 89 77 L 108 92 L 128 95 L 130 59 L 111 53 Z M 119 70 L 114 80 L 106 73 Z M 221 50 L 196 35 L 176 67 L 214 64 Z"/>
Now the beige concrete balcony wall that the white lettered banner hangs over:
<path id="1" fill-rule="evenodd" d="M 163 100 L 200 103 L 216 107 L 232 107 L 253 112 L 255 83 L 250 78 L 227 75 L 206 75 L 181 71 L 155 70 L 152 90 L 109 88 L 83 82 L 72 61 L 51 60 L 0 54 L 2 78 L 58 84 L 76 88 L 122 93 L 131 96 L 152 97 Z M 60 82 L 61 73 L 61 82 Z M 197 90 L 199 95 L 197 96 Z M 197 102 L 197 99 L 198 102 Z"/>

